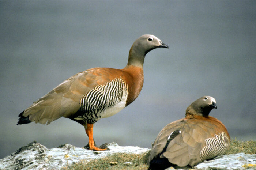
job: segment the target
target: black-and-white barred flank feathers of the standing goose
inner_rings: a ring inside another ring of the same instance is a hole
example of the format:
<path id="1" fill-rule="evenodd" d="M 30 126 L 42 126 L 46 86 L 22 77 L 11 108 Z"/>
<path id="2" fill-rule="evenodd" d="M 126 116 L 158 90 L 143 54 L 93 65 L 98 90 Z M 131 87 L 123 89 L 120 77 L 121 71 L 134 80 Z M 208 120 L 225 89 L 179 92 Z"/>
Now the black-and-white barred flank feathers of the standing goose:
<path id="1" fill-rule="evenodd" d="M 80 99 L 79 111 L 83 114 L 75 119 L 90 124 L 95 123 L 102 117 L 102 112 L 126 100 L 127 95 L 127 84 L 122 78 L 116 78 L 105 85 L 98 85 Z"/>

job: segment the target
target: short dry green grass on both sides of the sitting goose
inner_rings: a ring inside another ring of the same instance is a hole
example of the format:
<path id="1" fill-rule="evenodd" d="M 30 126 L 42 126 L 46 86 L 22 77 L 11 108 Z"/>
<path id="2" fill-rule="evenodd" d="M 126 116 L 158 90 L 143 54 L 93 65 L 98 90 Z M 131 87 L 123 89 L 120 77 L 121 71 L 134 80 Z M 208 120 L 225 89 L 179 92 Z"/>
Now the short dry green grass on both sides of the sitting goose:
<path id="1" fill-rule="evenodd" d="M 244 152 L 256 154 L 256 141 L 231 140 L 231 145 L 226 155 Z M 90 162 L 76 163 L 61 170 L 147 170 L 147 159 L 150 151 L 143 154 L 110 154 L 105 158 L 91 160 Z M 132 162 L 127 164 L 125 162 Z"/>

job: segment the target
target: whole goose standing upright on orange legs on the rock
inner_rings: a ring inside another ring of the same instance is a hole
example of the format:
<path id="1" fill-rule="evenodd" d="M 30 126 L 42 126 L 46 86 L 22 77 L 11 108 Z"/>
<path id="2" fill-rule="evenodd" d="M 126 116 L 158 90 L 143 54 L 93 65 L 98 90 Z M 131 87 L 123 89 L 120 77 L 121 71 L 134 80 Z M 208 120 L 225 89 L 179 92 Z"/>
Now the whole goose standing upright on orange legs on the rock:
<path id="1" fill-rule="evenodd" d="M 144 80 L 144 58 L 160 47 L 168 48 L 154 35 L 142 35 L 133 43 L 125 68 L 91 68 L 72 76 L 20 113 L 17 125 L 50 124 L 66 117 L 84 126 L 90 150 L 106 150 L 95 146 L 93 124 L 116 114 L 138 97 Z"/>

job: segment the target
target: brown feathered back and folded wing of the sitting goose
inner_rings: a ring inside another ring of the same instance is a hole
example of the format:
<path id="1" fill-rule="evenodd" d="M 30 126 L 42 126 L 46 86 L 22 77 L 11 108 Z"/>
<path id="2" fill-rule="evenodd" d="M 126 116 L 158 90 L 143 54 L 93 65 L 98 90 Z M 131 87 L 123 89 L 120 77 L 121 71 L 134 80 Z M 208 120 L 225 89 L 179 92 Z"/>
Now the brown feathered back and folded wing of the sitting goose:
<path id="1" fill-rule="evenodd" d="M 178 120 L 166 125 L 157 136 L 151 150 L 148 163 L 154 156 L 160 154 L 165 147 L 168 136 L 179 129 L 181 133 L 168 144 L 160 158 L 167 158 L 170 163 L 178 166 L 194 166 L 201 160 L 201 150 L 206 145 L 206 139 L 218 134 L 215 125 L 203 120 Z"/>

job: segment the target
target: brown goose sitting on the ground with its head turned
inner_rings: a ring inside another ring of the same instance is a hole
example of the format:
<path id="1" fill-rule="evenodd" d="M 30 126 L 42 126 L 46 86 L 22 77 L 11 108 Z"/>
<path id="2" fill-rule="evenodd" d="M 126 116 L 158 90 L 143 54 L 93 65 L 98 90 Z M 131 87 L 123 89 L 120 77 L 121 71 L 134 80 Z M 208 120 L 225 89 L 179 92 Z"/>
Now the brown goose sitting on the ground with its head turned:
<path id="1" fill-rule="evenodd" d="M 153 144 L 149 169 L 193 167 L 225 154 L 230 146 L 229 133 L 221 121 L 208 116 L 213 108 L 217 109 L 215 99 L 203 96 L 187 108 L 185 118 L 166 125 Z"/>

